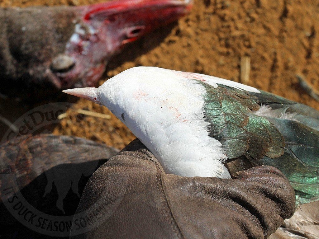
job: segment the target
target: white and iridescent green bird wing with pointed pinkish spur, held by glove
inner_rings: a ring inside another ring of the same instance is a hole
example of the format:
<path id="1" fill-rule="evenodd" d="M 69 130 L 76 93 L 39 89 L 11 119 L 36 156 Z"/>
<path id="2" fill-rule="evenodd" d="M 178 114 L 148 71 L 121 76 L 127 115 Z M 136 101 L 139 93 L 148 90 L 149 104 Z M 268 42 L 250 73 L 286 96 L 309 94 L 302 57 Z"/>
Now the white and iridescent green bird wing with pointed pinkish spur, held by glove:
<path id="1" fill-rule="evenodd" d="M 319 111 L 237 82 L 156 67 L 64 92 L 106 106 L 167 173 L 236 178 L 259 165 L 278 168 L 301 205 L 286 227 L 318 238 Z"/>

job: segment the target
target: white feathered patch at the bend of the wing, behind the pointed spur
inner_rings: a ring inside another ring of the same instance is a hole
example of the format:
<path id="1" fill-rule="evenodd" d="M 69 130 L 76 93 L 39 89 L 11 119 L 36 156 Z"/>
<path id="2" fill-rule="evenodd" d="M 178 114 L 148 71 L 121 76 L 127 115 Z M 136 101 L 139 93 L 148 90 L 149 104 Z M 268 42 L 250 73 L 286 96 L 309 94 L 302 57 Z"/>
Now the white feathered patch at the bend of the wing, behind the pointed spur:
<path id="1" fill-rule="evenodd" d="M 229 178 L 222 164 L 227 159 L 223 146 L 208 133 L 205 94 L 196 80 L 155 67 L 128 69 L 98 89 L 100 102 L 130 128 L 167 173 Z"/>

